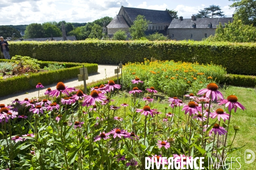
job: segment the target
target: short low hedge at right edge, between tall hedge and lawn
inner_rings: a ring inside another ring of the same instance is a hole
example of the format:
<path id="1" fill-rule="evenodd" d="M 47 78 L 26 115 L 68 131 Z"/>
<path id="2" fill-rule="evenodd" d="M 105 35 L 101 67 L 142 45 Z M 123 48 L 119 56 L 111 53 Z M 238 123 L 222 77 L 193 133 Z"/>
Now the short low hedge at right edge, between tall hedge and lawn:
<path id="1" fill-rule="evenodd" d="M 243 87 L 255 87 L 256 76 L 247 76 L 239 74 L 227 74 L 224 82 L 227 85 L 243 86 Z"/>

